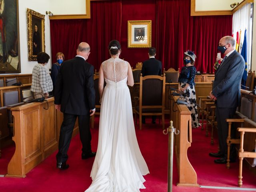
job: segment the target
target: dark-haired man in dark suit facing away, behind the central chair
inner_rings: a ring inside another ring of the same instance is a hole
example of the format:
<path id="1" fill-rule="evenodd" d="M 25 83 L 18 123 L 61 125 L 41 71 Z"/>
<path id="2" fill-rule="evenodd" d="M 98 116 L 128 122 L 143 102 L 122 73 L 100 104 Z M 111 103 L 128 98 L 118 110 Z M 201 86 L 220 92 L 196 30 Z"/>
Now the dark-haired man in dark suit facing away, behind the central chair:
<path id="1" fill-rule="evenodd" d="M 147 75 L 161 75 L 162 73 L 162 62 L 158 61 L 156 58 L 156 48 L 150 47 L 148 49 L 149 59 L 142 63 L 141 73 L 142 76 Z M 142 116 L 142 123 L 145 123 L 145 116 Z M 156 116 L 152 116 L 152 123 L 156 123 Z"/>

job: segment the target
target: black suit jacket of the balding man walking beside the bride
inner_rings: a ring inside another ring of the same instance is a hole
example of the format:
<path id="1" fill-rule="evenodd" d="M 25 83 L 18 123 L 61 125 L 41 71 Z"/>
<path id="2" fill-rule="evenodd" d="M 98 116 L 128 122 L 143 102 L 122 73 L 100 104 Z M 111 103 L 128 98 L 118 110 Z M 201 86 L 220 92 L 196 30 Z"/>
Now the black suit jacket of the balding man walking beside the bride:
<path id="1" fill-rule="evenodd" d="M 64 61 L 55 84 L 54 103 L 61 112 L 88 115 L 95 108 L 94 67 L 81 57 Z"/>

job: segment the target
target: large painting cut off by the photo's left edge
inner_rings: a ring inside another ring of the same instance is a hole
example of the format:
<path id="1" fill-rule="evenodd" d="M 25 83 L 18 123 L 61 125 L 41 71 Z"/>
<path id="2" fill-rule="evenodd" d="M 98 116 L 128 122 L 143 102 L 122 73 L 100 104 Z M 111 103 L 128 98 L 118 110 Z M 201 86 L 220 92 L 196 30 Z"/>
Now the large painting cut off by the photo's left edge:
<path id="1" fill-rule="evenodd" d="M 0 0 L 0 73 L 20 73 L 18 0 Z"/>

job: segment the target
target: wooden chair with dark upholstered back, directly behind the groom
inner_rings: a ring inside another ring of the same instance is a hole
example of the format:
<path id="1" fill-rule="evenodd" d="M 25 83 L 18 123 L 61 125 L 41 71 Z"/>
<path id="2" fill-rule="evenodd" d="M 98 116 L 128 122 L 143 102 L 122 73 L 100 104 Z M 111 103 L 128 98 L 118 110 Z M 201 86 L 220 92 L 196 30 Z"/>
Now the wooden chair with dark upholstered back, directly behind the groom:
<path id="1" fill-rule="evenodd" d="M 142 129 L 142 116 L 162 116 L 162 128 L 164 129 L 164 105 L 165 105 L 165 74 L 164 76 L 140 75 L 140 97 L 135 98 L 135 121 L 137 114 L 140 120 L 140 130 Z"/>

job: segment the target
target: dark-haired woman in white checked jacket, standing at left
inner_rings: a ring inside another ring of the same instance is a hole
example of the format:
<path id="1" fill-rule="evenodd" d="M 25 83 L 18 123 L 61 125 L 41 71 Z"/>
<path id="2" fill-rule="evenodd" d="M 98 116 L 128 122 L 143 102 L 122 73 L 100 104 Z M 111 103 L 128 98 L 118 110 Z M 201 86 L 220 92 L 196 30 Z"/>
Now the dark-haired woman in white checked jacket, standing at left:
<path id="1" fill-rule="evenodd" d="M 45 52 L 40 52 L 36 59 L 38 64 L 32 70 L 32 85 L 30 90 L 35 99 L 42 97 L 48 98 L 53 86 L 51 76 L 44 66 L 48 63 L 50 56 Z"/>

